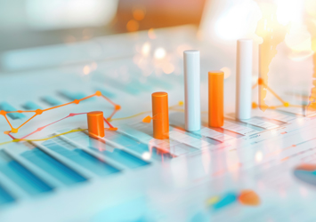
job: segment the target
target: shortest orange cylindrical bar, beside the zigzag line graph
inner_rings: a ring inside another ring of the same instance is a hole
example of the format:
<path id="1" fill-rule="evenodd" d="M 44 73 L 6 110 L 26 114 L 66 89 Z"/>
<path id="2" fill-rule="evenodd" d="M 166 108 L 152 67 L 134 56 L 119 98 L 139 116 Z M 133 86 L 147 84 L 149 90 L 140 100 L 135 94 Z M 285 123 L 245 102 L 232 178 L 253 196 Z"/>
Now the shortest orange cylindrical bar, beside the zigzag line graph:
<path id="1" fill-rule="evenodd" d="M 88 131 L 91 136 L 104 137 L 104 120 L 102 111 L 94 111 L 86 114 L 88 119 Z"/>

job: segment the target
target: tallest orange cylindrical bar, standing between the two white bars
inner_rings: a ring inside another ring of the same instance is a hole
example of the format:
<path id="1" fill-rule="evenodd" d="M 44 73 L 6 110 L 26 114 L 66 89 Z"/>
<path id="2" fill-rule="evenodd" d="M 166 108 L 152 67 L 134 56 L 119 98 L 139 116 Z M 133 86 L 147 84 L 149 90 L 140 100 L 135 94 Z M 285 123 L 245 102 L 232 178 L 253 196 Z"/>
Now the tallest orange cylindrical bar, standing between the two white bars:
<path id="1" fill-rule="evenodd" d="M 223 126 L 223 72 L 208 72 L 208 126 Z"/>

